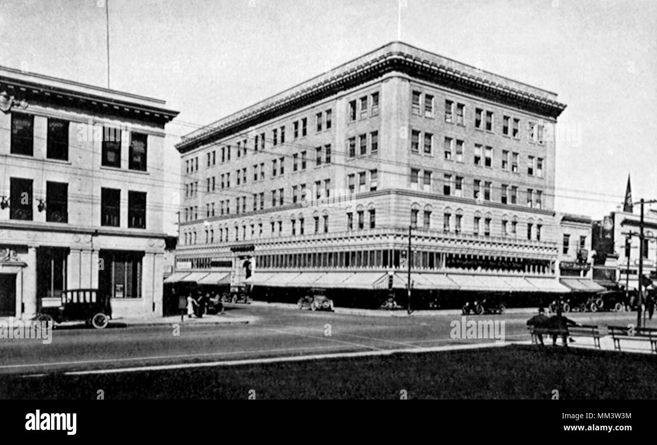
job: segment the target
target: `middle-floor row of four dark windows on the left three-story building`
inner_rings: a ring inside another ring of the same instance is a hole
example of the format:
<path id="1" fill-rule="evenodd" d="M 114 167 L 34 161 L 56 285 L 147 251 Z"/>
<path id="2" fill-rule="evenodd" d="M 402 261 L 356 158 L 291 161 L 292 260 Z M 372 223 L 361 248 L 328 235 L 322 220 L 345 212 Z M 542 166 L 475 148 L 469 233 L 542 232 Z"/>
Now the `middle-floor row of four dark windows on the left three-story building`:
<path id="1" fill-rule="evenodd" d="M 44 199 L 34 199 L 34 179 L 9 178 L 9 197 L 2 197 L 0 209 L 9 207 L 9 219 L 34 220 L 34 202 L 37 210 L 45 212 L 46 222 L 68 223 L 68 183 L 46 181 Z M 101 225 L 120 227 L 121 190 L 101 188 Z M 127 192 L 127 227 L 146 228 L 146 193 Z"/>

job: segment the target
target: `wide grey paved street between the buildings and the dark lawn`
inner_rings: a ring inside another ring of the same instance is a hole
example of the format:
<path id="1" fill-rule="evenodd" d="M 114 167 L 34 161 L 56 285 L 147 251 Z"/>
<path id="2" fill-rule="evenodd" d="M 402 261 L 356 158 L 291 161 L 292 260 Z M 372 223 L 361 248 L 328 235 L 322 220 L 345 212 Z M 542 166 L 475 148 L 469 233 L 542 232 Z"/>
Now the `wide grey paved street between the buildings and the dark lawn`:
<path id="1" fill-rule="evenodd" d="M 34 375 L 53 371 L 108 369 L 137 365 L 240 360 L 331 352 L 413 349 L 489 339 L 451 339 L 450 322 L 460 315 L 364 316 L 311 312 L 277 305 L 234 305 L 230 316 L 252 322 L 173 326 L 55 329 L 51 344 L 41 340 L 0 340 L 0 373 Z M 405 313 L 403 313 L 405 315 Z M 400 314 L 401 315 L 401 314 Z M 507 342 L 526 341 L 530 314 L 468 316 L 504 320 Z M 626 325 L 635 313 L 571 313 L 581 323 Z M 330 325 L 330 336 L 325 331 Z M 118 325 L 125 326 L 125 325 Z M 652 320 L 650 327 L 657 327 Z"/>

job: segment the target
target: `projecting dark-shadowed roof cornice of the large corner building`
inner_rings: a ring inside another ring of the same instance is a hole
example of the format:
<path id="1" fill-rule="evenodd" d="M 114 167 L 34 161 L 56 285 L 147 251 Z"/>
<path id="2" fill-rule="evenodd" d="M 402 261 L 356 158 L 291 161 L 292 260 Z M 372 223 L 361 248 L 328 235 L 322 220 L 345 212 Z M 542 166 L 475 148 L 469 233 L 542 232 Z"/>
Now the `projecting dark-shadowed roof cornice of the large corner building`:
<path id="1" fill-rule="evenodd" d="M 285 112 L 380 78 L 388 72 L 402 72 L 549 118 L 556 118 L 566 108 L 566 105 L 556 101 L 556 94 L 550 91 L 479 70 L 405 43 L 393 42 L 189 133 L 176 148 L 181 153 L 191 151 L 238 131 L 248 130 Z"/>

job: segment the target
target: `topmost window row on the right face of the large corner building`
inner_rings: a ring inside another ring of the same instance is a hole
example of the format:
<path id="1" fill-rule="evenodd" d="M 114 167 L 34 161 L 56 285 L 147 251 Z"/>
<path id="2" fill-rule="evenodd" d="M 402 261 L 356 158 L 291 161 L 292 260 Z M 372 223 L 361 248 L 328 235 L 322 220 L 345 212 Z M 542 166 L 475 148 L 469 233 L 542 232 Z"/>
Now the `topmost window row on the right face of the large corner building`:
<path id="1" fill-rule="evenodd" d="M 436 104 L 436 97 L 434 95 L 417 90 L 413 90 L 411 93 L 412 114 L 433 119 L 438 115 L 437 107 L 438 104 Z M 465 126 L 466 106 L 464 103 L 445 99 L 443 116 L 447 124 Z M 495 111 L 486 110 L 484 106 L 474 107 L 475 129 L 495 133 L 498 125 L 495 119 Z M 520 126 L 520 118 L 510 116 L 509 114 L 502 114 L 501 131 L 503 135 L 520 140 L 522 136 Z M 545 143 L 545 126 L 528 120 L 526 122 L 526 136 L 530 143 Z"/>

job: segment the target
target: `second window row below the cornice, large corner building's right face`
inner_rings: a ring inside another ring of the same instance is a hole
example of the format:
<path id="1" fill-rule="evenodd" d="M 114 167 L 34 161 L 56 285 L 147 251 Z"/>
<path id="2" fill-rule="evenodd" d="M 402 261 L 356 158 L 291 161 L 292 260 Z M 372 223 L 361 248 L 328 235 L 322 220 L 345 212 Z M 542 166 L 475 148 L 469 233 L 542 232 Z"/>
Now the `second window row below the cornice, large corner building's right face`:
<path id="1" fill-rule="evenodd" d="M 434 134 L 427 131 L 411 130 L 411 152 L 434 155 Z M 421 148 L 421 151 L 420 151 Z M 493 168 L 494 154 L 499 154 L 499 162 L 502 170 L 512 173 L 520 173 L 520 153 L 493 149 L 489 145 L 475 143 L 472 154 L 468 154 L 465 141 L 455 137 L 445 136 L 443 140 L 443 158 L 449 161 L 465 162 L 468 156 L 472 156 L 472 163 L 478 167 Z M 528 155 L 526 173 L 528 176 L 543 177 L 545 171 L 545 158 Z"/>

